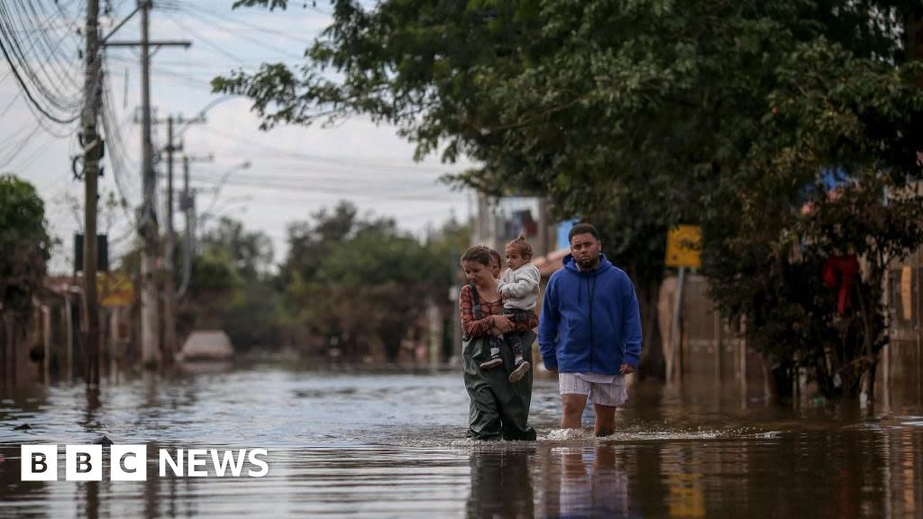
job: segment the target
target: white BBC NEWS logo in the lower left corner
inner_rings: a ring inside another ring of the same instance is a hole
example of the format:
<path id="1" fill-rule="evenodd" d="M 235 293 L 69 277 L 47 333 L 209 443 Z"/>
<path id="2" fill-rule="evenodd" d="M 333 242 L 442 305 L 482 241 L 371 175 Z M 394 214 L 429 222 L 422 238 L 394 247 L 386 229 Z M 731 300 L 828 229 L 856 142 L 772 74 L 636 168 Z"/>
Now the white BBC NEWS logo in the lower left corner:
<path id="1" fill-rule="evenodd" d="M 112 481 L 147 481 L 148 449 L 145 445 L 113 445 L 109 449 L 109 478 Z M 21 479 L 23 481 L 57 481 L 57 445 L 22 445 Z M 208 477 L 208 465 L 217 477 L 264 477 L 270 472 L 265 449 L 166 449 L 159 453 L 160 477 L 168 472 L 174 477 Z M 67 445 L 66 481 L 102 481 L 102 445 Z M 250 465 L 250 466 L 247 466 Z M 244 468 L 246 467 L 246 471 Z M 256 470 L 254 469 L 256 467 Z"/>

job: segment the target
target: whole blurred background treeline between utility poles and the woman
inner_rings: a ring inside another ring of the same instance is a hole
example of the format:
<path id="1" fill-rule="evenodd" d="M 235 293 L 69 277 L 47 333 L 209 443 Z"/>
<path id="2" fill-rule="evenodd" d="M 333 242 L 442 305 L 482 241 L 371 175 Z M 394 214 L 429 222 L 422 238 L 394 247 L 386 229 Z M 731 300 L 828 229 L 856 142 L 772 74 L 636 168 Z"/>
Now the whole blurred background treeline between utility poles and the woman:
<path id="1" fill-rule="evenodd" d="M 349 361 L 397 358 L 424 340 L 431 305 L 448 301 L 468 229 L 450 221 L 423 244 L 393 220 L 360 216 L 349 202 L 289 226 L 289 250 L 270 272 L 269 237 L 222 219 L 203 236 L 181 319 L 221 328 L 241 350 L 293 344 L 312 356 L 336 347 Z"/>

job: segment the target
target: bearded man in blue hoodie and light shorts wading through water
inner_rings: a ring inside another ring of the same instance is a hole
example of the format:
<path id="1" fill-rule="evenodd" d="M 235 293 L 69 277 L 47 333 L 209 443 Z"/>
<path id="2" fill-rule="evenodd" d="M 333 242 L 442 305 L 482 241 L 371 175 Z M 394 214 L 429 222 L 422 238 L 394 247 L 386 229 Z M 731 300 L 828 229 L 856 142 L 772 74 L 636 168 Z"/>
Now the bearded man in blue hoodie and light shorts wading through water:
<path id="1" fill-rule="evenodd" d="M 580 428 L 587 399 L 596 436 L 615 432 L 625 375 L 641 357 L 641 312 L 628 274 L 602 254 L 593 225 L 570 229 L 570 254 L 551 275 L 539 316 L 538 345 L 545 368 L 558 373 L 561 427 Z"/>

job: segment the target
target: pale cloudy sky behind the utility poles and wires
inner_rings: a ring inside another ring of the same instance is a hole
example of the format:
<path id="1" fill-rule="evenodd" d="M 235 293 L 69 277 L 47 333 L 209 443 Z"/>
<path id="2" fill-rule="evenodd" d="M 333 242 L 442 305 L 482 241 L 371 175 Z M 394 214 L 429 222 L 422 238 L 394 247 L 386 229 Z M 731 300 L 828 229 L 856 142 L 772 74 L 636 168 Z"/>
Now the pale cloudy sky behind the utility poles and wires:
<path id="1" fill-rule="evenodd" d="M 304 49 L 331 19 L 326 2 L 317 6 L 293 2 L 288 10 L 273 12 L 258 7 L 234 10 L 233 3 L 154 1 L 150 39 L 192 42 L 189 49 L 164 47 L 151 59 L 150 100 L 157 119 L 197 115 L 221 97 L 210 93 L 210 79 L 234 68 L 256 70 L 264 62 L 304 63 Z M 85 4 L 84 0 L 0 1 L 4 7 L 0 17 L 10 24 L 12 37 L 24 49 L 38 80 L 71 104 L 82 95 L 78 49 L 85 44 L 81 35 Z M 111 14 L 101 19 L 102 32 L 108 34 L 131 13 L 135 1 L 101 0 L 101 6 L 103 10 L 111 6 Z M 138 41 L 138 18 L 129 19 L 111 40 Z M 141 127 L 135 118 L 141 97 L 140 66 L 135 49 L 111 47 L 105 54 L 104 110 L 112 135 L 106 143 L 98 225 L 101 233 L 109 235 L 110 259 L 115 260 L 137 239 Z M 206 226 L 229 216 L 249 230 L 270 235 L 277 261 L 284 258 L 287 224 L 310 220 L 312 213 L 341 199 L 352 201 L 363 213 L 393 217 L 415 235 L 451 216 L 466 219 L 473 210 L 470 192 L 453 191 L 438 182 L 440 176 L 472 164 L 443 164 L 437 156 L 415 163 L 413 144 L 400 138 L 394 127 L 356 117 L 336 127 L 277 127 L 265 132 L 258 129 L 258 117 L 244 98 L 223 100 L 205 116 L 206 122 L 187 127 L 182 139 L 186 153 L 213 156 L 211 162 L 196 161 L 190 167 L 198 211 L 208 211 Z M 50 270 L 70 272 L 72 236 L 83 226 L 83 185 L 71 172 L 72 157 L 79 150 L 78 123 L 51 122 L 31 107 L 6 59 L 0 60 L 0 122 L 0 173 L 18 175 L 38 189 L 49 229 L 59 240 Z M 165 124 L 152 128 L 152 139 L 155 147 L 165 144 Z M 161 174 L 162 193 L 165 163 L 155 168 Z M 178 160 L 174 175 L 178 188 L 182 185 Z M 107 209 L 104 202 L 110 197 L 125 199 L 126 206 Z M 174 216 L 174 226 L 184 227 L 179 214 Z"/>

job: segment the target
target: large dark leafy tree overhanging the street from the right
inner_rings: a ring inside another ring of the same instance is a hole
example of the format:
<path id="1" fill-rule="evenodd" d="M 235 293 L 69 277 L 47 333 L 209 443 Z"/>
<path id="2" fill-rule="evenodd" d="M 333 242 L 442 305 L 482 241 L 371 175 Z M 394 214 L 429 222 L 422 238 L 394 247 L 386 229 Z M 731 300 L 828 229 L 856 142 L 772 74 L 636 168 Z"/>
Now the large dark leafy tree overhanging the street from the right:
<path id="1" fill-rule="evenodd" d="M 781 311 L 805 300 L 805 277 L 821 275 L 806 265 L 791 276 L 773 260 L 784 257 L 782 242 L 821 218 L 797 217 L 807 201 L 813 214 L 828 213 L 831 202 L 816 188 L 824 171 L 842 171 L 867 194 L 854 201 L 869 205 L 833 211 L 839 228 L 875 211 L 882 188 L 901 189 L 920 175 L 920 68 L 904 44 L 917 2 L 332 5 L 333 22 L 299 72 L 265 65 L 216 78 L 214 89 L 253 99 L 264 127 L 370 115 L 399 127 L 417 156 L 441 150 L 444 160 L 466 154 L 481 163 L 459 178 L 466 185 L 545 194 L 560 216 L 606 218 L 607 248 L 634 270 L 641 290 L 656 286 L 666 229 L 701 223 L 705 272 L 725 312 L 755 319 L 759 308 Z M 914 216 L 891 211 L 892 222 Z M 878 245 L 857 252 L 900 257 L 919 243 L 912 227 L 860 236 Z M 802 243 L 821 255 L 827 242 L 815 235 Z M 863 284 L 877 283 L 877 268 Z M 763 283 L 744 282 L 751 279 Z M 804 311 L 833 322 L 829 306 Z M 770 315 L 789 322 L 785 313 Z M 881 308 L 869 307 L 863 321 L 862 333 L 823 328 L 808 342 L 833 333 L 850 344 L 837 347 L 844 366 L 870 376 L 880 348 L 852 344 L 879 343 Z M 819 357 L 802 355 L 809 344 L 786 352 L 785 338 L 805 331 L 777 324 L 773 332 L 748 322 L 749 343 L 823 378 Z M 857 364 L 858 351 L 866 354 Z M 847 385 L 845 393 L 857 391 Z"/>

